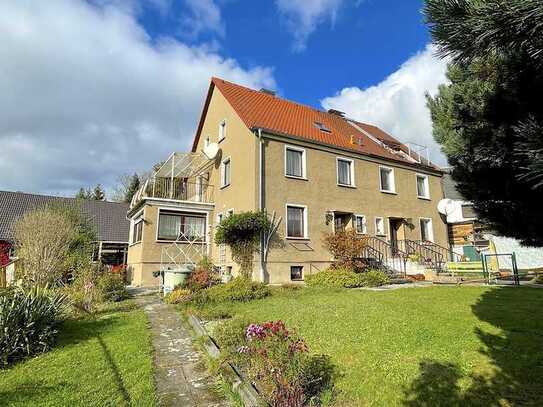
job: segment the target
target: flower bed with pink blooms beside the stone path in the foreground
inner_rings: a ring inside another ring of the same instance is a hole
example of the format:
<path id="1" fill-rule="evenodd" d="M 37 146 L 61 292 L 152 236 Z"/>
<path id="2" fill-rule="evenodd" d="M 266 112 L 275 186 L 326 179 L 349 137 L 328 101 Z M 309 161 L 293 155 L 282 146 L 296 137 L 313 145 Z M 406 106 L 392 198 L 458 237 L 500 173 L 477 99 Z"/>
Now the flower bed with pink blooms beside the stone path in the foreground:
<path id="1" fill-rule="evenodd" d="M 256 384 L 272 406 L 319 403 L 330 394 L 335 368 L 326 355 L 312 355 L 305 341 L 282 321 L 262 324 L 234 318 L 216 328 L 222 357 Z"/>

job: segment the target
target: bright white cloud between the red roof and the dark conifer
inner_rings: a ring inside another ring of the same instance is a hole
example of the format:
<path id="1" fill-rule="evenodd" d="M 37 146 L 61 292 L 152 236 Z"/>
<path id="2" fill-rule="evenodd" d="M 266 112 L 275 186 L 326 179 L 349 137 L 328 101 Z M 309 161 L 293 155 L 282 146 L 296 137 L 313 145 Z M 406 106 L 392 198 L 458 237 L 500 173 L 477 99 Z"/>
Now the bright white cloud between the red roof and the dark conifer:
<path id="1" fill-rule="evenodd" d="M 430 158 L 445 164 L 445 157 L 432 137 L 432 121 L 425 93 L 435 95 L 446 82 L 446 61 L 428 45 L 409 58 L 381 83 L 366 89 L 348 87 L 321 101 L 325 109 L 337 109 L 361 122 L 374 124 L 403 142 L 426 145 Z"/>

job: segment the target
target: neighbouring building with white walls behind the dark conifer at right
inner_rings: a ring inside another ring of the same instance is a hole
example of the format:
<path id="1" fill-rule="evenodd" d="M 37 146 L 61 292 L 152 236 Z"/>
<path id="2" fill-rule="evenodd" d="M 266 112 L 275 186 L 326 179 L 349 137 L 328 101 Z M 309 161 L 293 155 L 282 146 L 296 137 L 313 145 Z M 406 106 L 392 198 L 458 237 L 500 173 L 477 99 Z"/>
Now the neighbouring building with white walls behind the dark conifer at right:
<path id="1" fill-rule="evenodd" d="M 519 269 L 543 268 L 542 249 L 525 247 L 515 239 L 497 236 L 479 221 L 472 203 L 458 192 L 448 171 L 443 175 L 443 194 L 439 209 L 447 221 L 449 245 L 453 252 L 471 261 L 480 260 L 482 253 L 515 253 Z M 500 268 L 511 268 L 506 256 L 500 256 L 498 262 Z"/>

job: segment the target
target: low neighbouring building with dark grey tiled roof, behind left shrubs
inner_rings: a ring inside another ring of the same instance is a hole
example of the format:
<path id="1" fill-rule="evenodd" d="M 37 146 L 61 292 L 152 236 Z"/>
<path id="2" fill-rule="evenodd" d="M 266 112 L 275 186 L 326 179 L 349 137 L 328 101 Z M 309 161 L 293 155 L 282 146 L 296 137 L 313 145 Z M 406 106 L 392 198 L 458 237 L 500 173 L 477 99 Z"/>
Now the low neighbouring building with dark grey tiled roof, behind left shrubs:
<path id="1" fill-rule="evenodd" d="M 111 265 L 126 263 L 130 227 L 126 219 L 128 204 L 8 191 L 0 191 L 0 262 L 16 256 L 15 222 L 26 212 L 51 204 L 79 207 L 90 219 L 98 235 L 95 260 Z"/>

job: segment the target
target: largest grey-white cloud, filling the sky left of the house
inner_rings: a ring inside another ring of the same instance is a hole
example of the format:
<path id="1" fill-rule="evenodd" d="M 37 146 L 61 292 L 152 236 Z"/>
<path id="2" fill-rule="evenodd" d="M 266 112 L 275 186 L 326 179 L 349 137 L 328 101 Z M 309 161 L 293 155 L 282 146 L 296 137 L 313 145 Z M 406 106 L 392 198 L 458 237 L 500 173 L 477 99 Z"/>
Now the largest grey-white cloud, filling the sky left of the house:
<path id="1" fill-rule="evenodd" d="M 190 147 L 212 75 L 275 87 L 269 68 L 151 41 L 112 2 L 0 2 L 0 37 L 0 189 L 111 187 Z"/>

